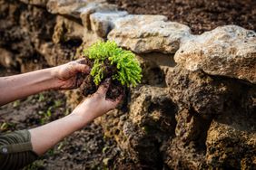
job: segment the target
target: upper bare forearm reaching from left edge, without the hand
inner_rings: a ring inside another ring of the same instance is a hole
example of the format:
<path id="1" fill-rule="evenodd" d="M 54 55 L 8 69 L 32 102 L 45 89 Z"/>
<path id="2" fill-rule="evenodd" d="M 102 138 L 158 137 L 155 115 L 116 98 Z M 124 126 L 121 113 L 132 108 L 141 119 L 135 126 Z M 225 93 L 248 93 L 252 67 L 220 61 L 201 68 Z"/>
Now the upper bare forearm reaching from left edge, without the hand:
<path id="1" fill-rule="evenodd" d="M 0 78 L 0 106 L 15 99 L 54 89 L 59 85 L 54 68 Z"/>

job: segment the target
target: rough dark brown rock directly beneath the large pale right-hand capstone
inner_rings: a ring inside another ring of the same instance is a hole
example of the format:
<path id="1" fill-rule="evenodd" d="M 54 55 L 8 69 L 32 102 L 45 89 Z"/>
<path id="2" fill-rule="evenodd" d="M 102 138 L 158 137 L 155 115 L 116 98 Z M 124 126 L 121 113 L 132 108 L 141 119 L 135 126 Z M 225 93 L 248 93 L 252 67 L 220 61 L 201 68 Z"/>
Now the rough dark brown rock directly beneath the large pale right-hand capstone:
<path id="1" fill-rule="evenodd" d="M 180 109 L 192 109 L 203 118 L 222 114 L 234 98 L 229 90 L 231 82 L 222 83 L 202 71 L 187 71 L 177 66 L 166 77 L 171 98 Z"/>

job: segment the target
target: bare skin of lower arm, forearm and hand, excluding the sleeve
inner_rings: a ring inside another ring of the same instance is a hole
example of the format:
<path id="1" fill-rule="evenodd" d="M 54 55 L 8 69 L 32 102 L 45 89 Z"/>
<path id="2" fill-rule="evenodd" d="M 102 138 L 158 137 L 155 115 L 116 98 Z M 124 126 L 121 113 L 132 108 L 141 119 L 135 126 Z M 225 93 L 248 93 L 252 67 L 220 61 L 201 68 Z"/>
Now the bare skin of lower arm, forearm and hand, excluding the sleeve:
<path id="1" fill-rule="evenodd" d="M 109 110 L 116 108 L 122 96 L 114 101 L 106 99 L 105 95 L 108 86 L 109 82 L 105 81 L 93 96 L 85 99 L 70 115 L 42 127 L 30 129 L 34 152 L 39 156 L 43 155 L 44 152 L 64 139 L 64 137 L 85 127 L 94 118 L 102 116 Z"/>

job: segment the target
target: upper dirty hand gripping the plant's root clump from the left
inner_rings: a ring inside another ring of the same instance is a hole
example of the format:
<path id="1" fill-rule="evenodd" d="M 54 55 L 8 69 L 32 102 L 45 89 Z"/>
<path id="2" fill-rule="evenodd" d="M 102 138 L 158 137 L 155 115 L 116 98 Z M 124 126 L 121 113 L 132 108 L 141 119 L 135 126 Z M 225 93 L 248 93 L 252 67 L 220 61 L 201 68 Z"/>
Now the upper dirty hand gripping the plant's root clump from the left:
<path id="1" fill-rule="evenodd" d="M 64 65 L 53 68 L 54 77 L 59 81 L 60 90 L 71 90 L 78 88 L 83 82 L 84 74 L 89 74 L 90 68 L 85 64 L 84 59 L 70 61 Z"/>

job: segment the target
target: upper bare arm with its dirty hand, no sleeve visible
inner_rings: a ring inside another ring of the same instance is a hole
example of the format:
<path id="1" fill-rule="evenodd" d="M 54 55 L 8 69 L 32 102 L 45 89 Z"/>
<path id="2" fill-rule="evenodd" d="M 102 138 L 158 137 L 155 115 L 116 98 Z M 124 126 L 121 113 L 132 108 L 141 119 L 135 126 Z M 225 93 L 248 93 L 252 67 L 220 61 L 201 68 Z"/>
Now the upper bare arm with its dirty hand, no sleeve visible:
<path id="1" fill-rule="evenodd" d="M 81 85 L 79 72 L 89 73 L 84 60 L 71 61 L 49 69 L 0 78 L 0 106 L 15 99 L 51 89 L 74 89 Z"/>

